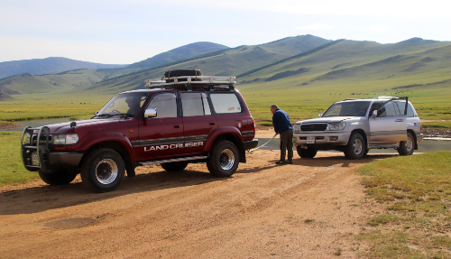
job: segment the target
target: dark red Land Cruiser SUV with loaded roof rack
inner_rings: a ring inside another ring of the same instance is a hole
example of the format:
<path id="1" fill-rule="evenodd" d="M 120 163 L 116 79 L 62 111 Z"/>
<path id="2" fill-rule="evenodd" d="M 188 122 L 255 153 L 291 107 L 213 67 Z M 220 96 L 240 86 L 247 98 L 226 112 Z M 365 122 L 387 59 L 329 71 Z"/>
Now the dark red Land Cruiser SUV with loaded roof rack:
<path id="1" fill-rule="evenodd" d="M 149 89 L 116 95 L 91 119 L 25 127 L 23 165 L 51 185 L 80 173 L 97 191 L 115 190 L 125 171 L 133 177 L 137 166 L 153 163 L 181 171 L 189 162 L 207 162 L 211 174 L 231 176 L 258 143 L 234 79 L 171 70 L 147 80 Z"/>

